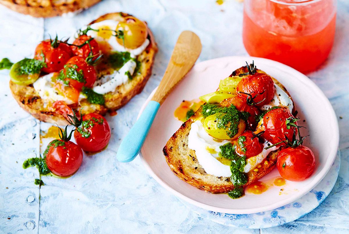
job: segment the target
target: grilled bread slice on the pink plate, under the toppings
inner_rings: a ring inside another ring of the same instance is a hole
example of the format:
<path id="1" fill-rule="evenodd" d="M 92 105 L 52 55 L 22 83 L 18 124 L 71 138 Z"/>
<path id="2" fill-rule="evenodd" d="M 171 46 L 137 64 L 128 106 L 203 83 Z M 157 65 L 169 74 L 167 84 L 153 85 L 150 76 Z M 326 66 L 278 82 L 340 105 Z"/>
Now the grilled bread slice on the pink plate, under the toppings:
<path id="1" fill-rule="evenodd" d="M 232 75 L 235 76 L 245 72 L 247 72 L 247 67 L 241 67 L 234 71 Z M 261 70 L 257 70 L 257 72 L 265 73 Z M 273 80 L 276 85 L 289 94 L 279 81 L 274 78 Z M 163 148 L 165 159 L 173 173 L 188 184 L 211 193 L 229 192 L 234 189 L 234 185 L 230 182 L 230 178 L 207 174 L 205 169 L 203 169 L 198 162 L 195 151 L 188 147 L 188 136 L 191 124 L 194 119 L 196 119 L 200 109 L 190 119 L 184 122 L 177 132 L 167 141 Z M 280 149 L 270 152 L 266 160 L 260 164 L 261 167 L 258 168 L 258 171 L 252 170 L 247 173 L 248 182 L 245 186 L 259 180 L 274 168 L 277 159 L 276 156 Z"/>

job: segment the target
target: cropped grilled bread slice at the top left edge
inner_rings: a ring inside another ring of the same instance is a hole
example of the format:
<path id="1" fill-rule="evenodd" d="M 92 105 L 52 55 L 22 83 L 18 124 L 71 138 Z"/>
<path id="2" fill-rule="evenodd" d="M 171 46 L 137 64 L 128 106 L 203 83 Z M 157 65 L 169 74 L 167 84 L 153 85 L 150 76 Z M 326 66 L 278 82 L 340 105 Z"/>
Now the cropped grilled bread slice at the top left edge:
<path id="1" fill-rule="evenodd" d="M 0 0 L 0 3 L 18 13 L 34 17 L 54 17 L 79 12 L 101 0 Z"/>

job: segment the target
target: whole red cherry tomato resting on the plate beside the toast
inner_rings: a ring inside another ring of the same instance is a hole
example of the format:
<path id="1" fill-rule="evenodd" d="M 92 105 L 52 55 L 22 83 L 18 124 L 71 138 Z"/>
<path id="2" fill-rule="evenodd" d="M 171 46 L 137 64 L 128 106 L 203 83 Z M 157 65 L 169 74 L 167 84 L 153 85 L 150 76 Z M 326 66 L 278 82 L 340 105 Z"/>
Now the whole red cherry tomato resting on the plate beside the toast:
<path id="1" fill-rule="evenodd" d="M 302 181 L 313 173 L 315 156 L 306 146 L 285 148 L 277 154 L 276 166 L 286 180 Z"/>

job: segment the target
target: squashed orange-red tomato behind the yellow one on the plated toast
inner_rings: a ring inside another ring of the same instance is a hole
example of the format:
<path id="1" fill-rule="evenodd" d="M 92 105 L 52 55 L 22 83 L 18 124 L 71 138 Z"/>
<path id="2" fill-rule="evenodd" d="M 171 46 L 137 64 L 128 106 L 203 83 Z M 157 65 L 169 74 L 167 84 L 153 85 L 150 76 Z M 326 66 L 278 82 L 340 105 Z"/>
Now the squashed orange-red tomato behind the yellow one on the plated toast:
<path id="1" fill-rule="evenodd" d="M 231 104 L 235 105 L 236 109 L 238 111 L 246 111 L 250 116 L 247 118 L 248 125 L 250 127 L 255 128 L 256 123 L 256 116 L 260 114 L 260 111 L 254 107 L 253 105 L 247 104 L 247 98 L 242 96 L 235 96 L 229 99 L 223 100 L 221 103 L 221 106 L 223 107 L 229 107 Z"/>

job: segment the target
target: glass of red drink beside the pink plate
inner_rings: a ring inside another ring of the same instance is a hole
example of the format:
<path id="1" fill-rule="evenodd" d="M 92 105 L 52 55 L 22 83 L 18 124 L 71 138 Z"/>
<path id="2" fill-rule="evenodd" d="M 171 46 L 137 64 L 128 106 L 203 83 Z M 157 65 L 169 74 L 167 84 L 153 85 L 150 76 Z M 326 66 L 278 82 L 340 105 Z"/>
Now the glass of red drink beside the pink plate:
<path id="1" fill-rule="evenodd" d="M 243 39 L 251 56 L 314 71 L 331 51 L 335 0 L 245 0 Z"/>

